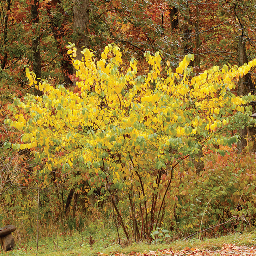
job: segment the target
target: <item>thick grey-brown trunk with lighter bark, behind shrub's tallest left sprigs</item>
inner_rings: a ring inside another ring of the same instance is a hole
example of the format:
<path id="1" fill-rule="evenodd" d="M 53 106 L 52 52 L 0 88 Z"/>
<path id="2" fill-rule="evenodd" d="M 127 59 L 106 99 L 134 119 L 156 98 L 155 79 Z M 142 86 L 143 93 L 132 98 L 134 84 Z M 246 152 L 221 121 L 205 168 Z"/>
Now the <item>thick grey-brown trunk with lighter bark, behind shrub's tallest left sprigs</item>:
<path id="1" fill-rule="evenodd" d="M 73 0 L 73 29 L 75 45 L 77 48 L 77 59 L 81 61 L 84 47 L 89 45 L 88 25 L 89 25 L 89 0 Z"/>

